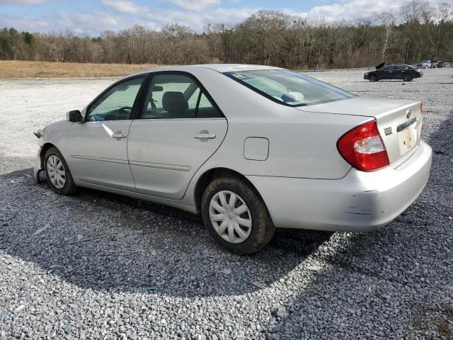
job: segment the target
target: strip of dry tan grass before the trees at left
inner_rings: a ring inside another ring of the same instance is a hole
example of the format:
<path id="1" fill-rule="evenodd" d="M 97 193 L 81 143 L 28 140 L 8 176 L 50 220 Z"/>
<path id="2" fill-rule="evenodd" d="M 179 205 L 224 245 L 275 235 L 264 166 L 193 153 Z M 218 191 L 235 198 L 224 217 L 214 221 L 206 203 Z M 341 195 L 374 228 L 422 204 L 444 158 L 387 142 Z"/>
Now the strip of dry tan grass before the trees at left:
<path id="1" fill-rule="evenodd" d="M 80 64 L 76 62 L 23 62 L 0 60 L 0 79 L 117 77 L 157 64 Z"/>

